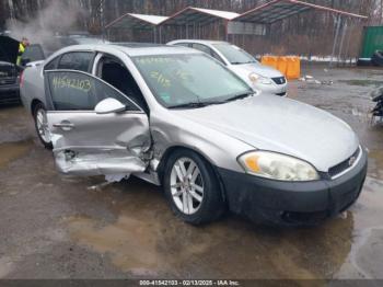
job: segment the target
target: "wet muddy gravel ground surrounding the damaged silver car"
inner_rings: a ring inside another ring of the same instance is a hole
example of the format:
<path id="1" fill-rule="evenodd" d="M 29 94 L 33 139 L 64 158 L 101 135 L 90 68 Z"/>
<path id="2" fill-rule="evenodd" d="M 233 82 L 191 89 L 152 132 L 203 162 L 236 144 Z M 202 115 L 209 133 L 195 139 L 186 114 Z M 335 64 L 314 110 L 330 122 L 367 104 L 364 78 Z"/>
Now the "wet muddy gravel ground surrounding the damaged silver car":
<path id="1" fill-rule="evenodd" d="M 277 229 L 228 215 L 176 219 L 161 188 L 130 179 L 66 177 L 21 106 L 0 108 L 0 278 L 383 278 L 383 126 L 367 93 L 382 70 L 307 66 L 333 84 L 290 83 L 289 96 L 345 119 L 369 150 L 358 203 L 320 227 Z M 315 128 L 315 127 L 313 127 Z"/>

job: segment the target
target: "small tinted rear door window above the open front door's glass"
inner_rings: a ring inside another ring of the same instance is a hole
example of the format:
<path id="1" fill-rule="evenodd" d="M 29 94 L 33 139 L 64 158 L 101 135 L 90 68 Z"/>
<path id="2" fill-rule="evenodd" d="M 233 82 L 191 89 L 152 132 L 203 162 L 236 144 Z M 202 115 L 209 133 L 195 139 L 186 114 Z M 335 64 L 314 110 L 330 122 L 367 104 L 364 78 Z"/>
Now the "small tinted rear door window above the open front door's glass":
<path id="1" fill-rule="evenodd" d="M 63 54 L 60 58 L 57 69 L 86 72 L 89 71 L 93 55 L 94 54 L 90 51 L 73 51 Z"/>

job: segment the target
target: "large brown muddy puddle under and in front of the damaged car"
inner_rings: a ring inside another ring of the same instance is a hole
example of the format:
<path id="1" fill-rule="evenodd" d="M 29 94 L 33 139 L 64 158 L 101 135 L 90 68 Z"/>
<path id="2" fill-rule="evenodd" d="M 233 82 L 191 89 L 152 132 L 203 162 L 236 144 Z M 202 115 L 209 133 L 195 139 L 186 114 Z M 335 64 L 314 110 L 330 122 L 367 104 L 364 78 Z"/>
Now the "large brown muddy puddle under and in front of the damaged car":
<path id="1" fill-rule="evenodd" d="M 196 228 L 174 217 L 158 187 L 129 181 L 117 190 L 114 220 L 66 222 L 74 242 L 134 275 L 328 278 L 351 250 L 352 214 L 310 229 L 268 229 L 234 216 Z"/>

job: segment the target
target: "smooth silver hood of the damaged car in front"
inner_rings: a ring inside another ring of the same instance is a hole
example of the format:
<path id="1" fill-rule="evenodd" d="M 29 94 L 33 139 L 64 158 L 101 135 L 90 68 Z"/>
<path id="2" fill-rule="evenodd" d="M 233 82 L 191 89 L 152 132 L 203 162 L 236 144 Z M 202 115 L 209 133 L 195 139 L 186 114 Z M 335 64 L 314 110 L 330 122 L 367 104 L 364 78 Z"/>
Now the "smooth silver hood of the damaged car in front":
<path id="1" fill-rule="evenodd" d="M 356 134 L 339 118 L 269 94 L 176 113 L 255 149 L 303 159 L 323 172 L 349 158 L 359 146 Z"/>

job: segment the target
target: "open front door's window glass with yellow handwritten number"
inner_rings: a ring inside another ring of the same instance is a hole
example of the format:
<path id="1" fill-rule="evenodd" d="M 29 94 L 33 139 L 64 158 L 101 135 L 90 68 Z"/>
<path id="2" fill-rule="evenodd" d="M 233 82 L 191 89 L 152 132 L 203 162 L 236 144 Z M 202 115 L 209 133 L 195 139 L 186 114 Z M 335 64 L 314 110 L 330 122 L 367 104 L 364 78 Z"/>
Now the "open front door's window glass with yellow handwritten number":
<path id="1" fill-rule="evenodd" d="M 56 111 L 93 111 L 107 97 L 118 100 L 127 106 L 127 111 L 140 111 L 124 94 L 90 74 L 56 70 L 48 71 L 46 77 Z"/>

